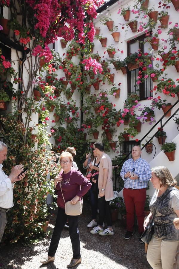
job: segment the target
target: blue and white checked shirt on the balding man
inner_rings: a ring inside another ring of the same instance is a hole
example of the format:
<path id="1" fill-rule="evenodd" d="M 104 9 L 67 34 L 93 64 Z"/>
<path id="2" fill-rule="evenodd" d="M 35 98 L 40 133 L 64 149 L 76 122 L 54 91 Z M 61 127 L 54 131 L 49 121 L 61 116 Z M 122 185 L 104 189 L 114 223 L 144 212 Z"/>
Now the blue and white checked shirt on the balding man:
<path id="1" fill-rule="evenodd" d="M 129 177 L 124 178 L 127 172 L 134 172 L 139 179 L 133 180 Z M 129 159 L 125 161 L 121 169 L 121 178 L 124 180 L 124 188 L 126 189 L 143 189 L 147 188 L 147 182 L 151 178 L 151 168 L 149 163 L 139 157 L 137 160 Z"/>

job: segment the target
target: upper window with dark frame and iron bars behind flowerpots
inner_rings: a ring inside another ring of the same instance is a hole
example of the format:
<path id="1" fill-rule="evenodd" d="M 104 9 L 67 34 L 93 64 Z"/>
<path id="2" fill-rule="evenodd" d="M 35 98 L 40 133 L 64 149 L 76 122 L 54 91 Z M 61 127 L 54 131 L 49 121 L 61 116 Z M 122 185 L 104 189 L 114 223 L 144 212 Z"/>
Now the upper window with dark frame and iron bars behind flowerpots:
<path id="1" fill-rule="evenodd" d="M 140 49 L 141 52 L 144 54 L 145 52 L 150 53 L 152 50 L 149 43 L 145 42 L 146 36 L 142 35 L 138 37 L 138 39 L 132 39 L 127 42 L 127 55 L 129 56 L 132 53 L 138 52 Z M 152 67 L 151 67 L 152 69 Z M 128 83 L 128 93 L 135 92 L 140 96 L 140 100 L 145 100 L 150 96 L 153 96 L 153 82 L 150 77 L 146 78 L 144 82 L 141 82 L 139 85 L 136 83 L 138 80 L 138 73 L 141 68 L 137 68 L 135 70 L 129 71 L 127 73 L 127 83 Z"/>

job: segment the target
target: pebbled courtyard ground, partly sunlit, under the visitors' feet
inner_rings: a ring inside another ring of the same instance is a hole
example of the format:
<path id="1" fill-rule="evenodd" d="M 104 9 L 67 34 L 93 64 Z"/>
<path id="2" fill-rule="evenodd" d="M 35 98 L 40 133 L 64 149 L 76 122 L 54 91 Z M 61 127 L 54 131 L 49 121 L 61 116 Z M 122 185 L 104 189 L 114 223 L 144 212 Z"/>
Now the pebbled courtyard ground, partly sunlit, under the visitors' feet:
<path id="1" fill-rule="evenodd" d="M 99 236 L 90 234 L 87 228 L 90 221 L 88 204 L 84 203 L 80 216 L 79 231 L 82 262 L 73 268 L 78 269 L 149 269 L 146 260 L 144 244 L 138 242 L 138 227 L 131 239 L 125 240 L 125 228 L 118 220 L 114 223 L 114 236 Z M 48 229 L 53 231 L 55 219 L 51 220 Z M 22 246 L 21 244 L 0 247 L 0 262 L 2 269 L 63 269 L 67 268 L 72 258 L 72 247 L 68 229 L 64 229 L 55 254 L 55 262 L 41 265 L 40 260 L 47 257 L 50 237 L 42 239 L 37 244 Z"/>

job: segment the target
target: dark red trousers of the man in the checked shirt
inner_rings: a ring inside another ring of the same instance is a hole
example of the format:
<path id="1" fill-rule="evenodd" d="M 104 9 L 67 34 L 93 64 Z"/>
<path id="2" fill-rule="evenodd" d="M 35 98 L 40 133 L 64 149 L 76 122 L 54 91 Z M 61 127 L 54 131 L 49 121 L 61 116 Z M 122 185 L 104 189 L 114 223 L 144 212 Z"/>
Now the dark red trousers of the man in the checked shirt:
<path id="1" fill-rule="evenodd" d="M 123 191 L 124 202 L 127 212 L 127 231 L 132 232 L 134 226 L 134 212 L 136 212 L 139 226 L 139 234 L 143 233 L 144 205 L 146 201 L 146 188 L 126 189 Z"/>

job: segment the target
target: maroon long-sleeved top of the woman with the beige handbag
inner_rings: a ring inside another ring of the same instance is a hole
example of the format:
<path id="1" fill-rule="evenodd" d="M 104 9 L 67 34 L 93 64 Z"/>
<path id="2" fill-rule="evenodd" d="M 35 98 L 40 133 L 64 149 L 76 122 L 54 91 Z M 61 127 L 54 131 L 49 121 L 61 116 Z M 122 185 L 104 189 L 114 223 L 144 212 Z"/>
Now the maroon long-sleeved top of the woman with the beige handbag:
<path id="1" fill-rule="evenodd" d="M 61 188 L 65 202 L 71 201 L 76 195 L 80 197 L 79 201 L 81 201 L 81 197 L 91 188 L 91 182 L 75 168 L 72 168 L 67 174 L 64 174 L 62 169 L 59 175 L 62 175 Z M 60 183 L 58 183 L 56 185 L 58 194 L 57 205 L 58 207 L 65 208 L 61 188 Z"/>

